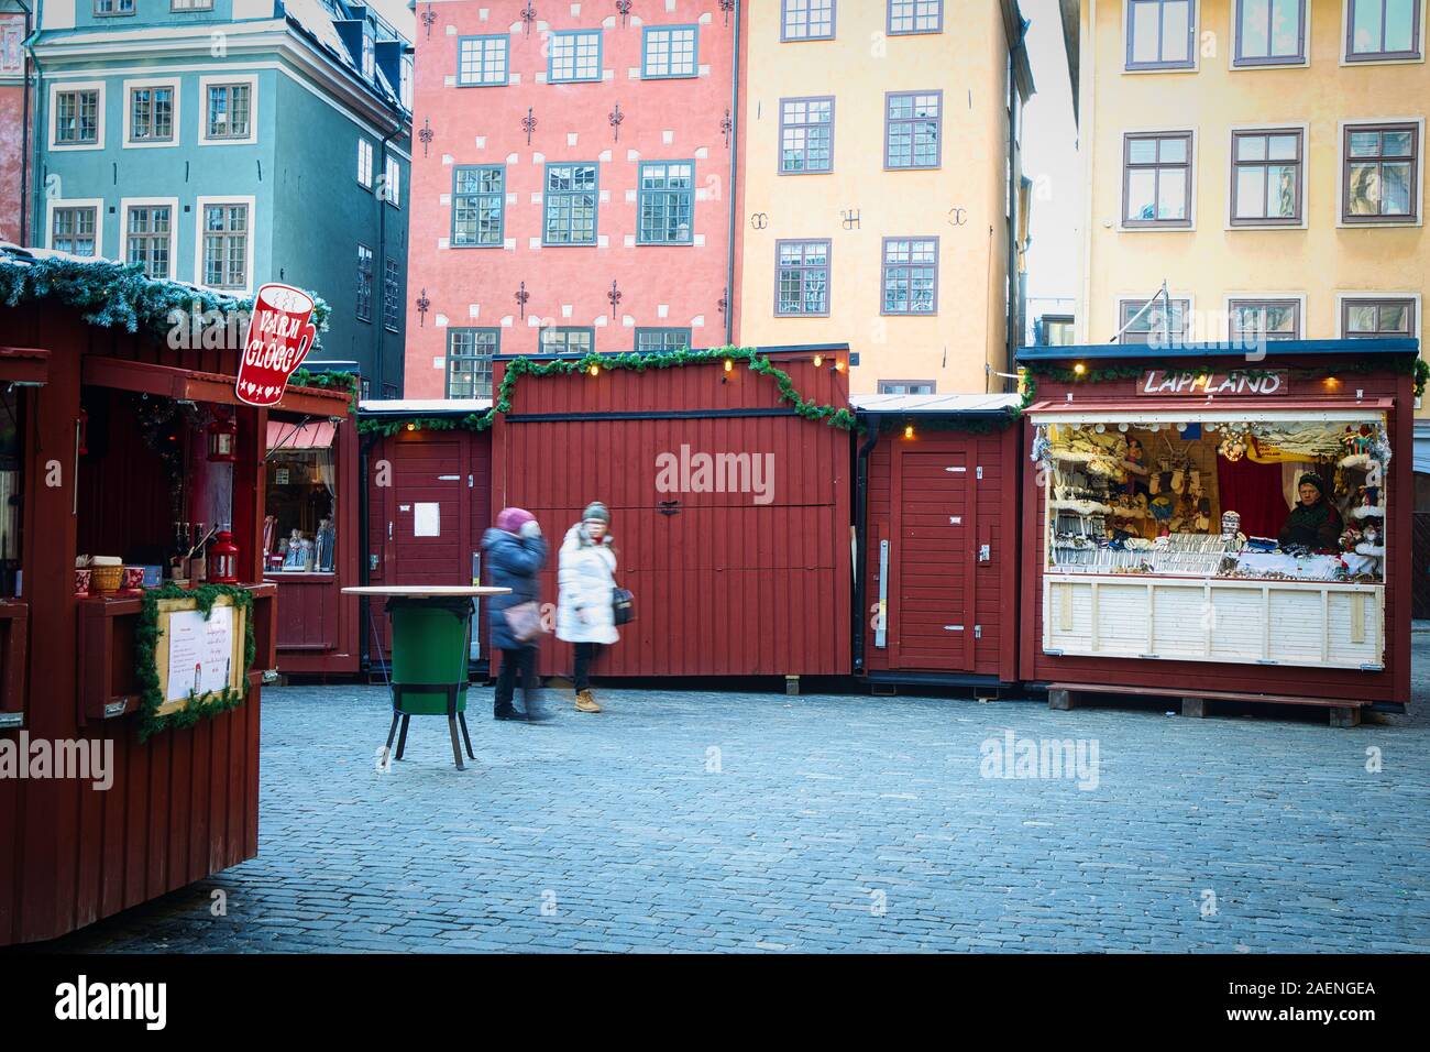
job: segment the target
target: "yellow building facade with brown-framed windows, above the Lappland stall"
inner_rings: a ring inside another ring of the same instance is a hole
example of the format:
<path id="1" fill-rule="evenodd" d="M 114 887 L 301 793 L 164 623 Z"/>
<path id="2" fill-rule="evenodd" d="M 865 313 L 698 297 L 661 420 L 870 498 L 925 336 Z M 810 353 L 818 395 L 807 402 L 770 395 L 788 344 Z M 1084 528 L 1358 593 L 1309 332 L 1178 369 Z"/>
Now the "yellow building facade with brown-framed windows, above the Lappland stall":
<path id="1" fill-rule="evenodd" d="M 1416 336 L 1426 0 L 1083 0 L 1080 342 Z M 1123 336 L 1147 339 L 1160 309 Z"/>

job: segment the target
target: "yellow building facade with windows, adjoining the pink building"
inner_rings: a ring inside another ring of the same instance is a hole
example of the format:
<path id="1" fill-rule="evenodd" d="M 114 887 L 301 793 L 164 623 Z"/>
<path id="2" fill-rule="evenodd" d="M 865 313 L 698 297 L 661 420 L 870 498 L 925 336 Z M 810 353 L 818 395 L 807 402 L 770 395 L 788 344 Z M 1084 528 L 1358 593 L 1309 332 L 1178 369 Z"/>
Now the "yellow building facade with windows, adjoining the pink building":
<path id="1" fill-rule="evenodd" d="M 1005 389 L 1032 90 L 1017 4 L 744 13 L 738 341 L 847 342 L 857 394 Z"/>

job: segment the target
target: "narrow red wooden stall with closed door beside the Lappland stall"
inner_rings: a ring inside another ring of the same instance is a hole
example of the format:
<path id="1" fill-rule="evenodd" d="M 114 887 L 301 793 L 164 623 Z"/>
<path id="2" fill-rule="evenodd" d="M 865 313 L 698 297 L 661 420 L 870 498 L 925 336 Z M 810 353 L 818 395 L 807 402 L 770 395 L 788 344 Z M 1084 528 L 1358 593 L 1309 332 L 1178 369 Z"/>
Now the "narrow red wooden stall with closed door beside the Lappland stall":
<path id="1" fill-rule="evenodd" d="M 894 684 L 1017 680 L 1018 395 L 855 395 L 861 577 L 855 673 Z"/>

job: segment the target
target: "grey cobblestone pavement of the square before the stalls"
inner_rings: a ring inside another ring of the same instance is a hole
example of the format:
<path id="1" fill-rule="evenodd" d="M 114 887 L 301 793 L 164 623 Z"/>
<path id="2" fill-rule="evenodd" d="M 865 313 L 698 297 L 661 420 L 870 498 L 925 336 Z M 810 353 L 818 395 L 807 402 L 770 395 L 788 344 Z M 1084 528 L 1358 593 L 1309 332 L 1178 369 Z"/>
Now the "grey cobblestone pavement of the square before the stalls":
<path id="1" fill-rule="evenodd" d="M 661 690 L 529 727 L 475 688 L 465 773 L 420 717 L 375 770 L 380 687 L 267 690 L 259 857 L 49 948 L 1426 950 L 1430 634 L 1416 648 L 1419 713 L 1356 730 Z M 1097 766 L 984 777 L 1010 731 Z"/>

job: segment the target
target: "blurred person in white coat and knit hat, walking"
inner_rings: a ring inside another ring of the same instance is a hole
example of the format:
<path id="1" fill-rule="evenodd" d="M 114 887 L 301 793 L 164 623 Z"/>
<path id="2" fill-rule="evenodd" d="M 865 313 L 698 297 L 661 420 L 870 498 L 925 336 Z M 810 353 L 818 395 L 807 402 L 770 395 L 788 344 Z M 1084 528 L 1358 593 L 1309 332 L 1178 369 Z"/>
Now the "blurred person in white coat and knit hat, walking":
<path id="1" fill-rule="evenodd" d="M 556 638 L 576 647 L 576 711 L 599 713 L 591 693 L 591 666 L 602 646 L 621 638 L 612 600 L 616 587 L 616 552 L 611 541 L 611 512 L 599 501 L 586 505 L 581 521 L 561 542 L 556 581 Z"/>

